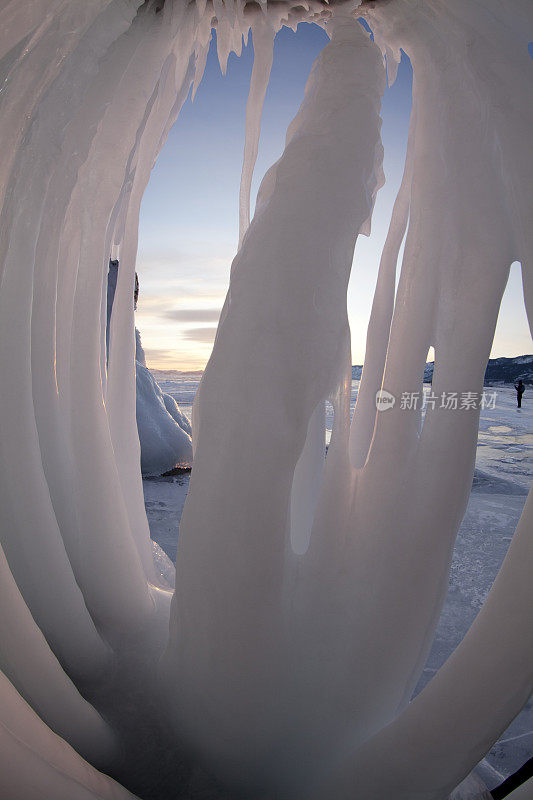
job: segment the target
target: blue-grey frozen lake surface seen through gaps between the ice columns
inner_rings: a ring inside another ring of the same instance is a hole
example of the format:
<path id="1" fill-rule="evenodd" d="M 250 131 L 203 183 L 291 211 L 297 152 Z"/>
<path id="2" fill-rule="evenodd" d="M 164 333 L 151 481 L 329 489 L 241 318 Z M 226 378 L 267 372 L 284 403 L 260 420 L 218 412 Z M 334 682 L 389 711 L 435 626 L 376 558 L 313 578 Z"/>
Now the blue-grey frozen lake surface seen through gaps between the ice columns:
<path id="1" fill-rule="evenodd" d="M 172 395 L 190 417 L 199 376 L 165 379 L 157 376 L 163 392 Z M 352 382 L 352 410 L 359 382 Z M 486 387 L 496 392 L 495 408 L 481 412 L 476 472 L 470 501 L 457 538 L 450 588 L 433 648 L 417 692 L 431 679 L 465 635 L 498 572 L 531 486 L 533 464 L 533 388 L 527 387 L 523 408 L 516 408 L 512 386 Z M 327 439 L 333 413 L 327 414 Z M 457 413 L 469 413 L 458 411 Z M 189 487 L 189 473 L 179 471 L 143 481 L 146 513 L 154 539 L 175 561 L 178 525 Z M 490 653 L 486 654 L 490 658 Z M 487 703 L 492 698 L 487 697 Z M 488 761 L 507 776 L 533 755 L 533 700 L 502 734 Z M 498 776 L 484 773 L 489 786 Z"/>

